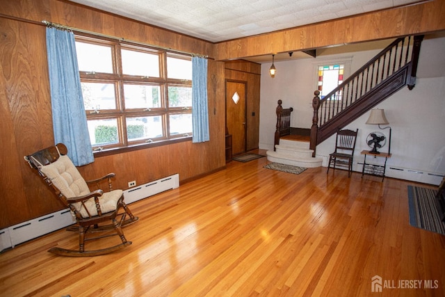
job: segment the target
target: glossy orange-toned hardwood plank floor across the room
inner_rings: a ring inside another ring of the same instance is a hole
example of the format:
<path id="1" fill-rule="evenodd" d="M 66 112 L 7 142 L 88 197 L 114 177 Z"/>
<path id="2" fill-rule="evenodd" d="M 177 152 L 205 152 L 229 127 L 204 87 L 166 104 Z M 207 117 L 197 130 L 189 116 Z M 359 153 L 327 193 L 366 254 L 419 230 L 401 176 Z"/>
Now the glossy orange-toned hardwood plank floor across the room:
<path id="1" fill-rule="evenodd" d="M 133 244 L 113 254 L 47 252 L 76 248 L 65 230 L 7 250 L 0 296 L 445 296 L 445 236 L 410 225 L 414 183 L 266 163 L 232 161 L 130 204 L 140 218 L 124 227 Z M 371 292 L 375 275 L 381 294 Z M 421 289 L 389 288 L 405 280 Z"/>

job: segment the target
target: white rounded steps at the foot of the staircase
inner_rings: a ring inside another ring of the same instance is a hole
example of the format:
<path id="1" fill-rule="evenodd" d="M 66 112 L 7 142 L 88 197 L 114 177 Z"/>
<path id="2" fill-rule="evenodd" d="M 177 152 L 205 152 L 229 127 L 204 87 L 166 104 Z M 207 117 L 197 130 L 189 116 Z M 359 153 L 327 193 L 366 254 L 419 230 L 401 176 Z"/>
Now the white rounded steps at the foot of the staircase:
<path id="1" fill-rule="evenodd" d="M 309 141 L 293 139 L 285 136 L 280 139 L 280 144 L 275 145 L 275 151 L 266 152 L 268 161 L 292 166 L 315 168 L 321 167 L 323 159 L 312 157 L 313 150 L 309 149 Z"/>

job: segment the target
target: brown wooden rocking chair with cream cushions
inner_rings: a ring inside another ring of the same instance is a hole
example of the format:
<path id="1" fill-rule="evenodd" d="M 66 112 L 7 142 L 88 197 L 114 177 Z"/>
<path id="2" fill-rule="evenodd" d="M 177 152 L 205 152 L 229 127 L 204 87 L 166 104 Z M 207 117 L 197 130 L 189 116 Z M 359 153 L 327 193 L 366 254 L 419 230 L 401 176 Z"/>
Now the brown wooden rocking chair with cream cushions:
<path id="1" fill-rule="evenodd" d="M 121 226 L 136 222 L 138 217 L 133 216 L 124 203 L 122 190 L 112 189 L 111 178 L 115 177 L 115 174 L 110 173 L 99 179 L 85 181 L 66 154 L 67 147 L 59 143 L 24 157 L 31 168 L 38 170 L 48 186 L 54 189 L 58 200 L 70 208 L 76 219 L 76 225 L 68 227 L 67 230 L 79 232 L 79 250 L 55 247 L 48 251 L 56 255 L 85 257 L 104 255 L 129 246 L 131 241 L 125 239 Z M 108 192 L 101 189 L 91 192 L 88 188 L 88 184 L 96 184 L 99 188 L 99 182 L 107 179 Z M 119 213 L 122 209 L 122 213 Z M 129 218 L 125 220 L 127 215 Z M 103 235 L 88 236 L 95 232 L 103 232 Z M 122 243 L 99 250 L 85 250 L 86 241 L 114 235 L 118 235 Z"/>

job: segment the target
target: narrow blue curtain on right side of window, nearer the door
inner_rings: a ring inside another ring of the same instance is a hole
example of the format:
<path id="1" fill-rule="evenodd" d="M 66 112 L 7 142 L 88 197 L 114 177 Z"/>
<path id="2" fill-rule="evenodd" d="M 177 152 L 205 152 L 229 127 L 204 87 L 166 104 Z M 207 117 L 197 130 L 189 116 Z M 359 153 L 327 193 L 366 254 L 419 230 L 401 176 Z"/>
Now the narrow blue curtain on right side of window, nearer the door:
<path id="1" fill-rule="evenodd" d="M 207 58 L 192 58 L 193 143 L 209 141 L 207 108 Z"/>

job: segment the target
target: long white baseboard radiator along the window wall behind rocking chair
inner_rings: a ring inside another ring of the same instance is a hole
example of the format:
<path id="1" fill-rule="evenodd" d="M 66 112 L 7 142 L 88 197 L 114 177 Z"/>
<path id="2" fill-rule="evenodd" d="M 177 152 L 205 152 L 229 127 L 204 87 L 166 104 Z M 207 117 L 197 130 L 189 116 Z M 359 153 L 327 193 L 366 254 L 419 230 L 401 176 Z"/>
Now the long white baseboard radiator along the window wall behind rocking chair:
<path id="1" fill-rule="evenodd" d="M 142 200 L 149 196 L 179 187 L 179 174 L 158 179 L 154 182 L 135 186 L 124 191 L 124 201 L 127 204 Z M 19 243 L 24 243 L 44 234 L 54 232 L 76 223 L 70 209 L 56 211 L 40 218 L 34 218 L 17 225 L 0 230 L 0 252 L 8 248 L 14 248 Z"/>

